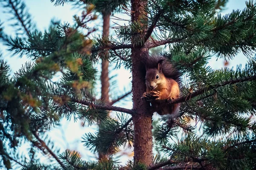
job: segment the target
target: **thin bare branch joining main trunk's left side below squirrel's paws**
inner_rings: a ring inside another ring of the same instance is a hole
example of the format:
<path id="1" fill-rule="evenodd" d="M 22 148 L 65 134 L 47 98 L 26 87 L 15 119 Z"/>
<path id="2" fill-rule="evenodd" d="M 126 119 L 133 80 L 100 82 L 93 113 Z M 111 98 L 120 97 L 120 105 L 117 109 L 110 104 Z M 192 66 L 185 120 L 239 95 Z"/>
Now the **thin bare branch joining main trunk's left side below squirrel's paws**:
<path id="1" fill-rule="evenodd" d="M 72 98 L 70 101 L 80 103 L 82 105 L 93 106 L 94 108 L 97 108 L 97 109 L 103 109 L 103 110 L 108 110 L 108 111 L 119 111 L 119 112 L 131 114 L 131 115 L 134 113 L 134 110 L 132 110 L 132 109 L 126 109 L 126 108 L 120 108 L 120 107 L 108 106 L 108 105 L 98 105 L 98 104 L 93 104 L 91 102 L 74 99 L 74 98 Z"/>

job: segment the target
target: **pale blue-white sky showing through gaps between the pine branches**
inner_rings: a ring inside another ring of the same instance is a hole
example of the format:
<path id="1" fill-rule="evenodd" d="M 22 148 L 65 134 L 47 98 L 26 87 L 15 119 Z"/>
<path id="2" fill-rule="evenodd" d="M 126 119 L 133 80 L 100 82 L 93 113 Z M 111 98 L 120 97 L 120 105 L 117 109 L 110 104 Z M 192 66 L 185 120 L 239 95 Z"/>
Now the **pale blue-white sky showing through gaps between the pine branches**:
<path id="1" fill-rule="evenodd" d="M 51 3 L 50 0 L 24 0 L 24 1 L 27 7 L 29 8 L 29 13 L 32 15 L 37 28 L 41 31 L 48 28 L 50 20 L 52 18 L 60 19 L 62 23 L 63 22 L 74 23 L 73 15 L 74 14 L 80 15 L 81 13 L 81 11 L 73 9 L 71 4 L 65 4 L 64 6 L 54 6 L 54 3 Z M 245 8 L 245 1 L 229 0 L 226 8 L 227 9 L 224 10 L 222 14 L 230 13 L 233 9 Z M 14 36 L 15 30 L 10 26 L 10 23 L 12 23 L 13 21 L 9 20 L 10 15 L 4 13 L 4 11 L 6 11 L 6 9 L 0 6 L 0 21 L 3 23 L 3 26 L 5 27 L 4 31 L 6 34 L 10 34 Z M 114 25 L 113 20 L 111 20 L 111 26 L 113 25 Z M 99 19 L 95 23 L 95 26 L 99 27 L 98 33 L 100 34 L 101 27 L 102 27 L 102 20 Z M 6 47 L 1 43 L 0 43 L 0 51 L 2 52 L 4 59 L 11 66 L 13 72 L 17 71 L 28 60 L 25 56 L 21 58 L 17 56 L 13 56 L 9 51 L 6 51 Z M 242 66 L 244 66 L 246 61 L 247 61 L 247 58 L 244 57 L 243 54 L 239 54 L 235 57 L 235 59 L 233 59 L 232 61 L 229 61 L 229 65 L 227 66 L 235 67 L 235 68 L 236 68 L 236 65 L 238 64 L 241 64 Z M 223 59 L 216 60 L 216 58 L 213 57 L 212 59 L 210 59 L 209 65 L 213 69 L 219 69 L 221 67 L 224 67 L 224 60 Z M 118 74 L 117 83 L 122 93 L 124 91 L 131 90 L 131 78 L 130 78 L 131 74 L 129 71 L 121 68 L 119 71 L 116 71 L 112 74 Z M 112 94 L 112 95 L 118 95 L 118 94 Z M 132 107 L 131 96 L 128 97 L 128 100 L 130 101 L 119 102 L 117 103 L 117 105 L 125 108 L 131 108 Z M 125 105 L 123 103 L 125 103 Z M 81 136 L 83 136 L 84 133 L 93 132 L 95 130 L 96 130 L 96 127 L 82 127 L 81 122 L 79 121 L 73 122 L 72 120 L 66 121 L 64 119 L 61 121 L 61 126 L 52 128 L 51 132 L 48 133 L 48 135 L 52 140 L 58 142 L 58 146 L 60 147 L 61 151 L 64 151 L 67 148 L 70 150 L 77 150 L 81 152 L 82 158 L 86 160 L 95 160 L 95 155 L 88 152 L 88 150 L 84 148 L 81 142 L 79 142 L 81 140 Z M 24 152 L 26 151 L 26 149 L 27 147 L 23 147 Z M 122 160 L 127 158 L 128 157 L 123 157 Z"/>

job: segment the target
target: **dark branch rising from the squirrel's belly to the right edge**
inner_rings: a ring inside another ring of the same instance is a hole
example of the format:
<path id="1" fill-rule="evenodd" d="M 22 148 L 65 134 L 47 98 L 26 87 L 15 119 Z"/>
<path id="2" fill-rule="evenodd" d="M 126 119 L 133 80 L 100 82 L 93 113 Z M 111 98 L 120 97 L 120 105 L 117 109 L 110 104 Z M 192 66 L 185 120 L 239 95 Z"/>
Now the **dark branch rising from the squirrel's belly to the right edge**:
<path id="1" fill-rule="evenodd" d="M 233 84 L 236 84 L 236 83 L 239 83 L 239 82 L 246 82 L 246 81 L 253 81 L 256 79 L 256 75 L 254 76 L 251 76 L 251 77 L 244 77 L 242 79 L 236 79 L 236 80 L 230 80 L 230 81 L 226 81 L 226 82 L 223 82 L 223 83 L 218 83 L 218 84 L 215 84 L 215 85 L 212 85 L 208 88 L 202 88 L 201 90 L 198 90 L 198 91 L 195 91 L 194 93 L 192 94 L 188 94 L 187 96 L 183 96 L 183 97 L 180 97 L 178 99 L 174 99 L 174 100 L 169 100 L 169 104 L 176 104 L 176 103 L 181 103 L 181 102 L 185 102 L 185 101 L 188 101 L 196 96 L 199 96 L 203 93 L 205 93 L 206 91 L 209 91 L 209 90 L 213 90 L 215 88 L 219 88 L 219 87 L 222 87 L 222 86 L 225 86 L 225 85 L 233 85 Z"/>

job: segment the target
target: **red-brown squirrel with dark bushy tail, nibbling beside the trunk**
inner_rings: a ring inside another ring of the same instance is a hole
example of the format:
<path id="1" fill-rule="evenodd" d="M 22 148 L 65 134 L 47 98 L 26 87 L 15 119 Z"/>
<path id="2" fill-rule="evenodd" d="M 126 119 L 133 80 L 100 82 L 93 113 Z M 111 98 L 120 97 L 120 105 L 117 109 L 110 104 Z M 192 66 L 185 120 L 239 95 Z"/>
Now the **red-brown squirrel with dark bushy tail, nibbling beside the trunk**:
<path id="1" fill-rule="evenodd" d="M 151 56 L 144 62 L 146 92 L 141 98 L 150 100 L 152 108 L 158 114 L 175 116 L 179 112 L 180 104 L 169 105 L 166 100 L 179 98 L 180 72 L 164 57 Z"/>

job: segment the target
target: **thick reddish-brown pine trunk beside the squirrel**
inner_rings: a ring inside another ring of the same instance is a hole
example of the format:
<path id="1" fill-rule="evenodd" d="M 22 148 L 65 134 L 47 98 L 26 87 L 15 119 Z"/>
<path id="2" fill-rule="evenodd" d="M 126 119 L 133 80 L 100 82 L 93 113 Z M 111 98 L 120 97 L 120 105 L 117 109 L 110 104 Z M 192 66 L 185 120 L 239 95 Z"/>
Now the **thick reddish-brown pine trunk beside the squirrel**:
<path id="1" fill-rule="evenodd" d="M 139 21 L 143 17 L 145 20 L 146 5 L 147 0 L 131 0 L 132 22 Z M 134 40 L 134 38 L 132 38 L 132 40 Z M 143 57 L 148 57 L 148 49 L 131 49 L 133 108 L 136 111 L 136 114 L 133 115 L 134 161 L 135 163 L 140 162 L 149 166 L 153 161 L 152 114 L 149 112 L 149 102 L 140 99 L 143 92 L 146 90 L 145 65 L 141 62 Z"/>

